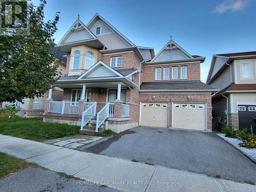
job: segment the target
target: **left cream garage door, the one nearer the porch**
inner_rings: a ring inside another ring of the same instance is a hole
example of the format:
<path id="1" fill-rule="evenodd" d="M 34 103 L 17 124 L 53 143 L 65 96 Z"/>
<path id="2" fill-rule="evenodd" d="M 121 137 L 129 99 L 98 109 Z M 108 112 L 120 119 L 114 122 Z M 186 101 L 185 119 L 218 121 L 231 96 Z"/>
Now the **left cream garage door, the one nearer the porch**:
<path id="1" fill-rule="evenodd" d="M 167 127 L 168 103 L 141 103 L 142 126 Z"/>

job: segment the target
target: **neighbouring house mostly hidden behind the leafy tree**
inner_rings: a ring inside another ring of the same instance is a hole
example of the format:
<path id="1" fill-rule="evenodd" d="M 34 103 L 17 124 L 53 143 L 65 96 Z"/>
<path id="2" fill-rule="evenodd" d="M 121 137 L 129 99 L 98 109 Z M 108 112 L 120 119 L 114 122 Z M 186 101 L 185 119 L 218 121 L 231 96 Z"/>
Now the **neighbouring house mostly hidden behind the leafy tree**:
<path id="1" fill-rule="evenodd" d="M 53 48 L 53 51 L 57 51 L 57 48 Z M 66 63 L 67 63 L 67 54 L 65 52 L 58 52 L 55 55 L 56 60 L 52 63 L 52 65 L 58 65 L 58 71 L 65 75 L 66 72 Z M 54 87 L 52 92 L 52 97 L 56 101 L 63 100 L 63 90 Z M 37 98 L 24 98 L 22 99 L 22 102 L 16 101 L 16 102 L 0 102 L 0 108 L 4 108 L 6 104 L 14 104 L 17 108 L 20 109 L 20 111 L 16 114 L 19 117 L 25 117 L 25 118 L 32 118 L 32 117 L 42 117 L 45 109 L 45 99 L 49 95 L 49 91 L 42 95 L 41 97 Z"/>

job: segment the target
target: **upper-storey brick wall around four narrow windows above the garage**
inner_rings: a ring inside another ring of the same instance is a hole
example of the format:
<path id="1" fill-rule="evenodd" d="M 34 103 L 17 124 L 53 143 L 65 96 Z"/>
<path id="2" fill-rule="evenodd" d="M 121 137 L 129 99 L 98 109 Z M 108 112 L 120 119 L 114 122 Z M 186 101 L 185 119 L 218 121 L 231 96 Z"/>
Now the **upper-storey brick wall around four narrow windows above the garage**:
<path id="1" fill-rule="evenodd" d="M 181 66 L 187 66 L 187 79 L 181 79 Z M 163 80 L 163 68 L 169 68 L 169 80 Z M 178 67 L 178 79 L 172 80 L 172 67 Z M 161 79 L 156 79 L 156 68 L 161 68 Z M 169 64 L 158 66 L 144 66 L 141 73 L 141 82 L 157 82 L 157 81 L 177 81 L 177 80 L 200 80 L 200 63 L 186 63 L 186 64 Z"/>

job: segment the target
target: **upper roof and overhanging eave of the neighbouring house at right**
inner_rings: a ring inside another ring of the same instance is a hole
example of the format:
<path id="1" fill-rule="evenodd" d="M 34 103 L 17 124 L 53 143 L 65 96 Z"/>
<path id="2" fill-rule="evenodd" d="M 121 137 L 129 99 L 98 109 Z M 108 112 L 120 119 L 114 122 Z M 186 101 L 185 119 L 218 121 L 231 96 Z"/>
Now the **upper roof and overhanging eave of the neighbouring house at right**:
<path id="1" fill-rule="evenodd" d="M 256 51 L 240 52 L 240 53 L 224 53 L 216 54 L 212 56 L 210 69 L 206 79 L 206 83 L 210 83 L 214 80 L 222 71 L 224 71 L 228 65 L 231 64 L 234 59 L 256 58 Z"/>

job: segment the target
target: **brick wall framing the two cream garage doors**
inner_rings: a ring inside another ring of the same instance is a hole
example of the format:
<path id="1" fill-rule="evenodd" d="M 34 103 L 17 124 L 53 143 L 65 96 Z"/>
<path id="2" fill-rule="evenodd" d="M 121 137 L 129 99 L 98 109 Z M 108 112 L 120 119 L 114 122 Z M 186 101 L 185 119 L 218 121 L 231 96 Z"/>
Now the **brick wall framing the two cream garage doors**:
<path id="1" fill-rule="evenodd" d="M 156 96 L 153 99 L 153 96 Z M 187 97 L 190 95 L 190 101 Z M 207 129 L 211 130 L 211 94 L 140 94 L 140 101 L 169 102 L 168 126 L 172 127 L 172 102 L 206 102 Z"/>

